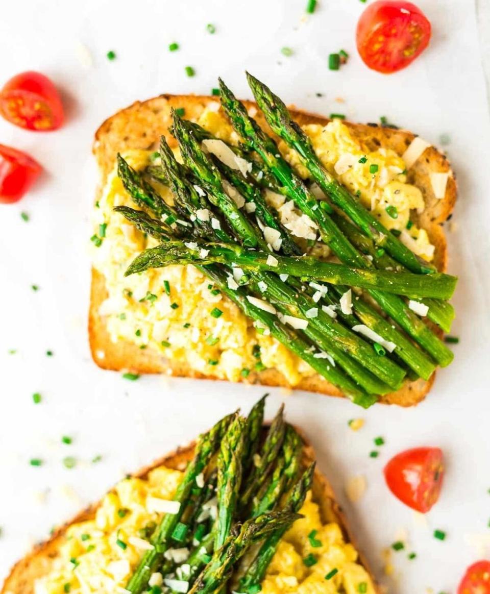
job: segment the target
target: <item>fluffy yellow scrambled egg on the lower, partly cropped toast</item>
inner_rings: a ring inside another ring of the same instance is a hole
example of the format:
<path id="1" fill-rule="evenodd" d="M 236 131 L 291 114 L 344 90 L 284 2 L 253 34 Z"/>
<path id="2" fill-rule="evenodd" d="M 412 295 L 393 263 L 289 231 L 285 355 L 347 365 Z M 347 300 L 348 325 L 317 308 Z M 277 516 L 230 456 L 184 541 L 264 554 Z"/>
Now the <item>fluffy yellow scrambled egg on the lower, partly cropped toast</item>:
<path id="1" fill-rule="evenodd" d="M 68 528 L 55 567 L 36 581 L 34 593 L 124 592 L 144 553 L 141 537 L 145 528 L 162 518 L 152 511 L 154 500 L 172 499 L 181 478 L 182 472 L 161 466 L 147 480 L 119 482 L 105 495 L 93 520 Z M 279 544 L 262 584 L 263 594 L 374 594 L 368 574 L 356 562 L 355 548 L 344 542 L 336 523 L 322 523 L 311 493 L 301 513 L 304 519 L 297 520 Z M 314 538 L 312 530 L 316 530 Z M 325 579 L 330 573 L 334 575 Z"/>

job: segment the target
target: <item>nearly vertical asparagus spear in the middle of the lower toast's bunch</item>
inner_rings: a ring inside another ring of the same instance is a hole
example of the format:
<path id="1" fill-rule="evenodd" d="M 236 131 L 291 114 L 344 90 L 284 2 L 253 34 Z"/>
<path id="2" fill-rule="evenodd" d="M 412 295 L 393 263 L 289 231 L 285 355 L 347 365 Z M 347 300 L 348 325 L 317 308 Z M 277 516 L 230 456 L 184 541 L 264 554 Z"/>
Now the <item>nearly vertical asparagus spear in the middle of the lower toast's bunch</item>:
<path id="1" fill-rule="evenodd" d="M 235 516 L 236 502 L 242 482 L 242 456 L 245 446 L 245 419 L 237 416 L 230 425 L 220 447 L 218 458 L 218 517 L 214 548 L 225 543 Z"/>

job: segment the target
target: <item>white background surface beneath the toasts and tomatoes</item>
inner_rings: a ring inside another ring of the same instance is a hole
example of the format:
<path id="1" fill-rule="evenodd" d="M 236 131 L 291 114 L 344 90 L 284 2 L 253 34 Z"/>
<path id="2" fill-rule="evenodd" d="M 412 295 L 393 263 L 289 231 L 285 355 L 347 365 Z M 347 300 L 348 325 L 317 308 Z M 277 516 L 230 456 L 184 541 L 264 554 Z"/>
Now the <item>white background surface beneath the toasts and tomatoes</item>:
<path id="1" fill-rule="evenodd" d="M 0 121 L 0 142 L 31 153 L 46 174 L 14 206 L 0 206 L 0 580 L 31 542 L 96 500 L 125 472 L 151 462 L 206 429 L 237 406 L 245 410 L 260 387 L 140 378 L 135 383 L 98 369 L 86 334 L 91 235 L 88 214 L 96 172 L 93 132 L 116 110 L 158 93 L 208 93 L 222 75 L 238 96 L 249 97 L 244 69 L 266 81 L 287 102 L 321 113 L 345 112 L 354 120 L 381 115 L 447 147 L 460 183 L 456 220 L 449 234 L 450 271 L 459 274 L 454 334 L 456 361 L 440 372 L 420 406 L 375 406 L 273 390 L 272 413 L 286 401 L 287 418 L 305 428 L 320 467 L 331 479 L 375 574 L 396 594 L 456 592 L 466 566 L 490 554 L 468 544 L 468 535 L 490 539 L 488 443 L 489 151 L 486 103 L 475 9 L 469 0 L 419 0 L 434 24 L 431 48 L 409 69 L 385 77 L 368 71 L 355 52 L 353 32 L 363 10 L 358 0 L 323 0 L 301 23 L 306 0 L 31 0 L 2 3 L 0 81 L 26 69 L 50 75 L 64 93 L 68 121 L 61 131 L 34 134 Z M 216 34 L 206 24 L 216 24 Z M 170 53 L 170 42 L 181 50 Z M 80 59 L 80 45 L 93 65 Z M 282 46 L 295 51 L 280 54 Z M 344 48 L 351 59 L 339 72 L 328 53 Z M 106 59 L 108 50 L 117 59 Z M 187 78 L 185 65 L 195 67 Z M 315 97 L 316 92 L 324 97 Z M 340 105 L 334 99 L 343 97 Z M 30 222 L 20 212 L 30 214 Z M 40 286 L 39 292 L 31 284 Z M 8 355 L 8 349 L 17 349 Z M 47 349 L 55 353 L 45 355 Z M 35 406 L 31 394 L 40 391 Z M 366 420 L 362 431 L 350 418 Z M 72 445 L 62 445 L 61 435 Z M 369 458 L 372 440 L 386 444 Z M 443 448 L 447 475 L 426 526 L 385 488 L 382 467 L 414 445 Z M 62 466 L 64 456 L 79 460 Z M 102 454 L 99 465 L 90 460 Z M 45 460 L 29 466 L 31 457 Z M 363 474 L 365 497 L 349 504 L 343 485 Z M 71 489 L 74 496 L 67 497 Z M 40 495 L 43 497 L 40 497 Z M 407 530 L 409 550 L 394 554 L 399 577 L 382 576 L 381 549 Z M 435 528 L 447 539 L 434 539 Z M 474 540 L 474 539 L 473 539 Z"/>

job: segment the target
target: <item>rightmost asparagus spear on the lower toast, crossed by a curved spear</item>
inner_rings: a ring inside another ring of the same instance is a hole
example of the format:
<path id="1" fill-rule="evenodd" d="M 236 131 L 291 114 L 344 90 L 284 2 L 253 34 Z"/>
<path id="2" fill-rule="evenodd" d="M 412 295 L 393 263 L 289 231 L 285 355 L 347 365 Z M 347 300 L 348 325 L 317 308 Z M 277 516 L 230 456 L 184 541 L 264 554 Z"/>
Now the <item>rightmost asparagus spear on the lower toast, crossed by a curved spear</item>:
<path id="1" fill-rule="evenodd" d="M 298 479 L 292 491 L 289 494 L 286 505 L 284 505 L 284 511 L 298 513 L 305 501 L 306 493 L 311 488 L 313 481 L 313 474 L 315 470 L 315 463 L 312 463 L 308 469 L 305 470 L 304 474 Z M 239 580 L 239 592 L 249 592 L 249 588 L 252 586 L 260 585 L 267 572 L 274 554 L 276 553 L 277 546 L 280 540 L 283 538 L 287 527 L 282 527 L 271 533 L 258 551 L 254 561 L 247 568 L 244 576 Z"/>

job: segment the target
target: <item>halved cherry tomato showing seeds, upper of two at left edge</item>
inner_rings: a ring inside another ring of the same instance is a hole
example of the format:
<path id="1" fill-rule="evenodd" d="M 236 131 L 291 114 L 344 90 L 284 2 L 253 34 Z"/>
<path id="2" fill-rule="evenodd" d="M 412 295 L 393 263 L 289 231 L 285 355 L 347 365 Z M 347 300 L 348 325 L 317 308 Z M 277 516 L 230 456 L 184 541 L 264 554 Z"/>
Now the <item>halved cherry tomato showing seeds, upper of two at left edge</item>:
<path id="1" fill-rule="evenodd" d="M 36 131 L 55 130 L 64 120 L 58 91 L 40 72 L 22 72 L 5 84 L 0 113 L 12 124 Z"/>

